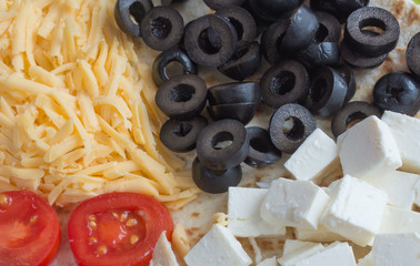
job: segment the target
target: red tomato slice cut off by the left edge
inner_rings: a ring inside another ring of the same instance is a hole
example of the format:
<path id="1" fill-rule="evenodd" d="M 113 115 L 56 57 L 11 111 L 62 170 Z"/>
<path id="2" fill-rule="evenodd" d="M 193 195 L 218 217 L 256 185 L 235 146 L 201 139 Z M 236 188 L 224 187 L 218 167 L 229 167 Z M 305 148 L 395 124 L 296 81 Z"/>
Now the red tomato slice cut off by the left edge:
<path id="1" fill-rule="evenodd" d="M 60 245 L 54 209 L 29 191 L 0 193 L 0 265 L 48 265 Z"/>

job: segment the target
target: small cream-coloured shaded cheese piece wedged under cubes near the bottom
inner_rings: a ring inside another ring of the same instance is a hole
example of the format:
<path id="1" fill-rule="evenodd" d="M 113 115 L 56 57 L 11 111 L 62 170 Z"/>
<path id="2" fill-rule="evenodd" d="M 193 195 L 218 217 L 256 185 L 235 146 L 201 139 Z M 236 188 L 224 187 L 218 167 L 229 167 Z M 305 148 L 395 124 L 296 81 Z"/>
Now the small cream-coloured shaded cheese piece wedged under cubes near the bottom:
<path id="1" fill-rule="evenodd" d="M 298 238 L 299 241 L 310 241 L 310 242 L 347 241 L 346 237 L 327 229 L 321 224 L 318 225 L 317 229 L 294 228 L 294 235 L 296 235 L 296 238 Z"/>

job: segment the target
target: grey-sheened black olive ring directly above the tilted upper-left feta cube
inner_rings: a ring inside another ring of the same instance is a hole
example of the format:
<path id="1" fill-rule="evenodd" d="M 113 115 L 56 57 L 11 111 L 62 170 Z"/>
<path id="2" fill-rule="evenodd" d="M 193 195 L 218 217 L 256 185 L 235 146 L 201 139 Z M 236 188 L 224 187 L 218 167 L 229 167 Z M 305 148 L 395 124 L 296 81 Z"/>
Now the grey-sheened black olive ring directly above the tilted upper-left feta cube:
<path id="1" fill-rule="evenodd" d="M 281 106 L 270 120 L 270 137 L 274 146 L 293 153 L 317 129 L 312 114 L 303 106 L 289 103 Z"/>

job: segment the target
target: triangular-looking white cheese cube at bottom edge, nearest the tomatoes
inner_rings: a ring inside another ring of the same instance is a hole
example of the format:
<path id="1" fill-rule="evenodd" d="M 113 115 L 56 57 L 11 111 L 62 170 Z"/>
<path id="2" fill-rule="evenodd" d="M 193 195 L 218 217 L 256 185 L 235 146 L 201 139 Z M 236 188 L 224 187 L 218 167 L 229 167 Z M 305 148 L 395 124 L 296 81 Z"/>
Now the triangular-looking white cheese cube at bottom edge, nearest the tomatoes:
<path id="1" fill-rule="evenodd" d="M 214 225 L 183 259 L 188 266 L 248 266 L 252 263 L 233 234 L 221 225 Z"/>

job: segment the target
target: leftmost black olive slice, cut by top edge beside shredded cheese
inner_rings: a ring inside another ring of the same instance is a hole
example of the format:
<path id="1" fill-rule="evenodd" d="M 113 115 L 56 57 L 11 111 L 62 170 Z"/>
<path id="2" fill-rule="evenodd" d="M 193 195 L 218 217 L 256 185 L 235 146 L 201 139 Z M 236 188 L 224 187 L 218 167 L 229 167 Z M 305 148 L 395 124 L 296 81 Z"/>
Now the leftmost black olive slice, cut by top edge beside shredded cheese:
<path id="1" fill-rule="evenodd" d="M 151 0 L 118 0 L 113 16 L 120 30 L 133 37 L 141 37 L 140 23 L 152 8 Z"/>

